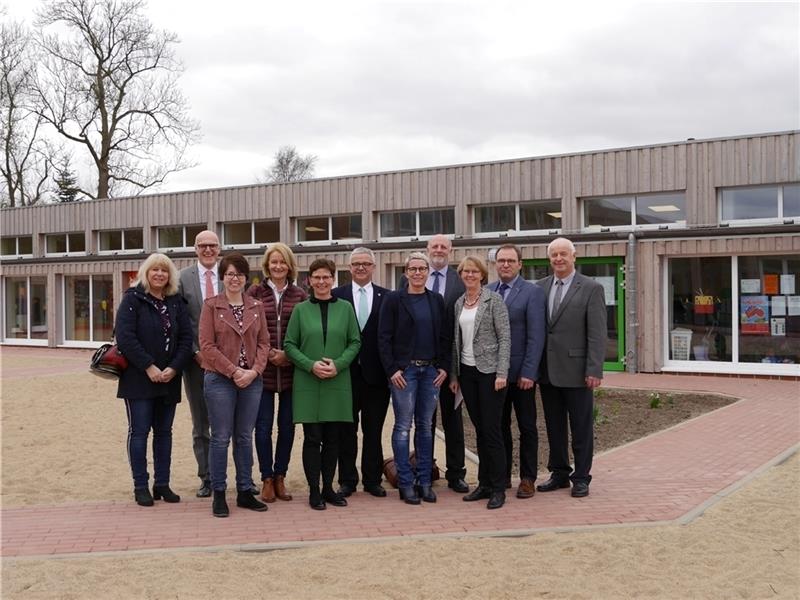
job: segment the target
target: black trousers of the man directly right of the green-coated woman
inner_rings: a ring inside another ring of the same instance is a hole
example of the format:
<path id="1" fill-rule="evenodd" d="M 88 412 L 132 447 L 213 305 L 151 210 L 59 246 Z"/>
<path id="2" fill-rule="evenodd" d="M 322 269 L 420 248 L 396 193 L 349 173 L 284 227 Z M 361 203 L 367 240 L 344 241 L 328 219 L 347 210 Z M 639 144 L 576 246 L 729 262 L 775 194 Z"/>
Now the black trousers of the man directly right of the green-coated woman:
<path id="1" fill-rule="evenodd" d="M 361 477 L 364 486 L 380 485 L 383 478 L 383 424 L 389 410 L 389 387 L 352 378 L 353 422 L 341 424 L 339 484 L 358 485 L 358 422 L 361 414 Z"/>

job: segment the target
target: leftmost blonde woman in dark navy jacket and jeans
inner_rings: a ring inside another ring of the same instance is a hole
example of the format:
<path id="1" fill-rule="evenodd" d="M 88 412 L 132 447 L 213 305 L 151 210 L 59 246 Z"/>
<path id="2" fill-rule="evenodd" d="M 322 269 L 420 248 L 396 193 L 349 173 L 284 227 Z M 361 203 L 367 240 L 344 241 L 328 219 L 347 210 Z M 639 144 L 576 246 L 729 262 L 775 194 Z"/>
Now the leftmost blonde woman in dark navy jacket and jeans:
<path id="1" fill-rule="evenodd" d="M 128 359 L 117 397 L 128 413 L 128 461 L 140 506 L 153 498 L 179 502 L 169 487 L 172 422 L 181 401 L 181 369 L 192 354 L 192 325 L 178 294 L 178 270 L 163 254 L 139 267 L 134 286 L 122 296 L 115 325 L 117 345 Z M 153 494 L 148 489 L 147 438 L 153 430 Z"/>

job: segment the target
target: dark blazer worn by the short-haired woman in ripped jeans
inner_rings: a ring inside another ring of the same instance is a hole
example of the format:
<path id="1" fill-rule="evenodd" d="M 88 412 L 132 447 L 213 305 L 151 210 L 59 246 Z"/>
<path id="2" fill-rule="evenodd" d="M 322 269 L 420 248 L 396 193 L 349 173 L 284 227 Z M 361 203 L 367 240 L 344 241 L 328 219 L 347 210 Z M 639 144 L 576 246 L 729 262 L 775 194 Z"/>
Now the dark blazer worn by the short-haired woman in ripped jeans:
<path id="1" fill-rule="evenodd" d="M 433 318 L 433 339 L 436 342 L 433 355 L 437 368 L 450 371 L 452 344 L 452 311 L 444 308 L 440 294 L 425 290 Z M 378 348 L 383 368 L 389 377 L 405 369 L 414 351 L 416 324 L 407 289 L 390 292 L 383 300 L 381 319 L 378 324 Z"/>

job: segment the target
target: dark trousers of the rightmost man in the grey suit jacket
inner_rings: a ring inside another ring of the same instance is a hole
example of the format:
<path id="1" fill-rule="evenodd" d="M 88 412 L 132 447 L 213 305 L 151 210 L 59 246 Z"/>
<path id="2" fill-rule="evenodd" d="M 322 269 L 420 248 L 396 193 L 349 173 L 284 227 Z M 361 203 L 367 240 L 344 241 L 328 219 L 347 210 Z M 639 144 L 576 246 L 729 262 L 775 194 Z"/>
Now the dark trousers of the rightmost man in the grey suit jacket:
<path id="1" fill-rule="evenodd" d="M 594 454 L 594 394 L 587 387 L 562 388 L 543 383 L 542 408 L 547 426 L 547 441 L 550 457 L 547 468 L 552 477 L 559 481 L 583 481 L 589 483 L 592 476 L 592 456 Z M 572 434 L 572 455 L 575 470 L 569 463 L 567 450 L 567 423 Z M 571 475 L 570 475 L 571 473 Z"/>

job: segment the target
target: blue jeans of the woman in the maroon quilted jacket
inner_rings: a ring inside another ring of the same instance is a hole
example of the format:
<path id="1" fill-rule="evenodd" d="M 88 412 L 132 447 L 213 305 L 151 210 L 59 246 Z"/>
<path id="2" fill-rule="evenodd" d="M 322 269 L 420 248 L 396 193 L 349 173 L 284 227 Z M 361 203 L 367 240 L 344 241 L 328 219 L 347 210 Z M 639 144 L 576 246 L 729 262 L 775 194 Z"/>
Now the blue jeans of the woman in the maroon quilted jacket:
<path id="1" fill-rule="evenodd" d="M 275 464 L 272 456 L 272 424 L 275 421 L 275 392 L 264 390 L 256 417 L 256 454 L 261 480 L 274 475 L 286 475 L 294 444 L 292 421 L 292 390 L 278 392 L 278 440 L 275 444 Z"/>

